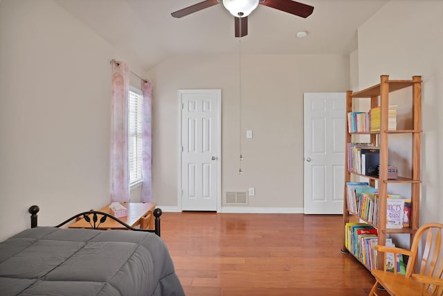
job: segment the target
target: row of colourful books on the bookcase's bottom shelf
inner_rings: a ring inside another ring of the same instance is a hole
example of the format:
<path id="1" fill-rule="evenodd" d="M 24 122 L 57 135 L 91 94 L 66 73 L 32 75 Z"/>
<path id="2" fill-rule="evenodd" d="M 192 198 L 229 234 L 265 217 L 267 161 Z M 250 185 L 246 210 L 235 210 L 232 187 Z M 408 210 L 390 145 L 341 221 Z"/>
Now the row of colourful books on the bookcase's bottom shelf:
<path id="1" fill-rule="evenodd" d="M 374 247 L 378 243 L 377 229 L 366 223 L 346 223 L 345 225 L 345 246 L 357 259 L 365 264 L 370 270 L 377 269 L 377 250 Z M 392 238 L 386 238 L 386 246 L 395 247 Z M 382 256 L 382 254 L 380 255 Z M 404 275 L 406 258 L 401 254 L 394 257 L 393 253 L 386 254 L 386 270 Z"/>

